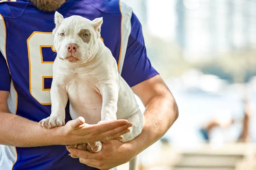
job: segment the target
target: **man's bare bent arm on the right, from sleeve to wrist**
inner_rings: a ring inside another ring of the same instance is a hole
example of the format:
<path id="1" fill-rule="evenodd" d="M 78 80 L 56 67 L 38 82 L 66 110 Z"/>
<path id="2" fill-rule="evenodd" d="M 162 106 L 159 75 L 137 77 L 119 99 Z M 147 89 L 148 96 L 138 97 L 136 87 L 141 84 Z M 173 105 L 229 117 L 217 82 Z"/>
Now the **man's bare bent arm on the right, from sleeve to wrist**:
<path id="1" fill-rule="evenodd" d="M 142 133 L 130 141 L 137 153 L 160 139 L 178 118 L 178 108 L 171 91 L 160 75 L 132 87 L 146 107 Z"/>

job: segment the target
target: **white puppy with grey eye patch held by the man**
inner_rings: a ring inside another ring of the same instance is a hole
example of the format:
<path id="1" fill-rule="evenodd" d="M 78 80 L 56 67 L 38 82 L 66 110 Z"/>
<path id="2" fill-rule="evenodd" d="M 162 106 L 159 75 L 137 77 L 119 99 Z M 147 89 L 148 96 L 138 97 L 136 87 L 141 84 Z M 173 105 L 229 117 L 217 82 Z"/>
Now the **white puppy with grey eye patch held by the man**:
<path id="1" fill-rule="evenodd" d="M 90 21 L 81 16 L 64 19 L 55 12 L 52 113 L 40 124 L 46 128 L 64 125 L 69 99 L 72 119 L 82 116 L 87 124 L 116 119 L 132 122 L 131 131 L 120 140 L 127 142 L 141 133 L 144 116 L 133 91 L 118 73 L 111 51 L 100 39 L 102 22 L 102 18 Z M 102 143 L 97 145 L 99 152 Z"/>

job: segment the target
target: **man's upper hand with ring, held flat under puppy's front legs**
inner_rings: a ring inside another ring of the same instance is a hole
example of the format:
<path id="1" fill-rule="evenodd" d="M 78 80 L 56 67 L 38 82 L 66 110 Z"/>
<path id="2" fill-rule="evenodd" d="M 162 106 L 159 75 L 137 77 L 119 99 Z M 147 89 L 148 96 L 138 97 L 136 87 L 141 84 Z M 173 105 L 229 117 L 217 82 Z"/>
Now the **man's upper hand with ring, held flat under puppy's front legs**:
<path id="1" fill-rule="evenodd" d="M 64 130 L 65 144 L 80 144 L 97 141 L 106 141 L 114 139 L 123 139 L 122 135 L 128 133 L 132 124 L 127 120 L 120 119 L 111 122 L 105 122 L 96 125 L 88 125 L 84 123 L 84 118 L 79 117 L 75 120 L 67 122 L 62 128 Z"/>

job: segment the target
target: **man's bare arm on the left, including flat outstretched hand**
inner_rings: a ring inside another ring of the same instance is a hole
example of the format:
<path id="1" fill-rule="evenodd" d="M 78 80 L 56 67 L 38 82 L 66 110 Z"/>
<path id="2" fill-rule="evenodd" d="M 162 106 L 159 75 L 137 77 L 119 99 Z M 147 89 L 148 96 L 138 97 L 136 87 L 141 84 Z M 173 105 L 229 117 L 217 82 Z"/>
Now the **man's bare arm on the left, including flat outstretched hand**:
<path id="1" fill-rule="evenodd" d="M 0 91 L 0 144 L 36 147 L 96 142 L 106 140 L 106 136 L 110 136 L 108 139 L 122 139 L 119 136 L 131 126 L 125 120 L 87 125 L 84 123 L 84 119 L 79 117 L 67 122 L 67 125 L 63 127 L 45 129 L 40 127 L 37 122 L 11 114 L 7 105 L 8 94 L 8 91 Z"/>

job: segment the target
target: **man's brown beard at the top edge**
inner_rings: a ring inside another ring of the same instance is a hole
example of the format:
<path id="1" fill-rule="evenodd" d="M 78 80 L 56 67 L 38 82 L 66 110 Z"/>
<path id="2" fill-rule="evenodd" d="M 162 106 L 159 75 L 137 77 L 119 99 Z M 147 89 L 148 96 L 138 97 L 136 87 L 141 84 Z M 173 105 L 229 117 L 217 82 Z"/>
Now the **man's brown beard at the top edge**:
<path id="1" fill-rule="evenodd" d="M 44 12 L 56 11 L 66 0 L 29 0 L 36 8 Z"/>

